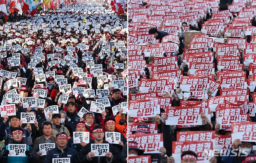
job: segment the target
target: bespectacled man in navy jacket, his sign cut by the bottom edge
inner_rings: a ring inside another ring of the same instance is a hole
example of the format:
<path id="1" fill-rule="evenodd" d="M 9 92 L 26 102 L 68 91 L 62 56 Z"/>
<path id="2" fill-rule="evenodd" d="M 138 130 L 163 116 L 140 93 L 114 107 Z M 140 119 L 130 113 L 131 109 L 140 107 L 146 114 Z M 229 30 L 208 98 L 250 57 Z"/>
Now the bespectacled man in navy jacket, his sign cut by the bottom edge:
<path id="1" fill-rule="evenodd" d="M 59 132 L 56 134 L 56 147 L 48 151 L 45 163 L 53 163 L 53 158 L 70 158 L 70 163 L 78 163 L 76 152 L 67 147 L 67 134 Z"/>

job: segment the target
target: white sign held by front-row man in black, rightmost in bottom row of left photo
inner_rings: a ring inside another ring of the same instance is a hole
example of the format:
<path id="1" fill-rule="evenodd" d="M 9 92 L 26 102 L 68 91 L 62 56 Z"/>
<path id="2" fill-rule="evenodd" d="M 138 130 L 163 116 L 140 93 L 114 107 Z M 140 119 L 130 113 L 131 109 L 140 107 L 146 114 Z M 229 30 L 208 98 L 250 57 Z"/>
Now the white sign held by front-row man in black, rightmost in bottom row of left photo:
<path id="1" fill-rule="evenodd" d="M 109 144 L 91 144 L 91 152 L 94 156 L 105 156 L 109 152 Z"/>

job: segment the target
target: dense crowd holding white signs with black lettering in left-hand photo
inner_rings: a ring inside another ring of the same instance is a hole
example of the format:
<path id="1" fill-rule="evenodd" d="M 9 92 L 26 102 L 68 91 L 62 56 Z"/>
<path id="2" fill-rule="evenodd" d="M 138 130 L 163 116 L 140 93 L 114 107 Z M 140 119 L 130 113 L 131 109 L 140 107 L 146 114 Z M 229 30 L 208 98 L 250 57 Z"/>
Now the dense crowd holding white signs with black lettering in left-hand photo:
<path id="1" fill-rule="evenodd" d="M 126 162 L 126 17 L 79 1 L 23 18 L 0 24 L 0 162 Z"/>

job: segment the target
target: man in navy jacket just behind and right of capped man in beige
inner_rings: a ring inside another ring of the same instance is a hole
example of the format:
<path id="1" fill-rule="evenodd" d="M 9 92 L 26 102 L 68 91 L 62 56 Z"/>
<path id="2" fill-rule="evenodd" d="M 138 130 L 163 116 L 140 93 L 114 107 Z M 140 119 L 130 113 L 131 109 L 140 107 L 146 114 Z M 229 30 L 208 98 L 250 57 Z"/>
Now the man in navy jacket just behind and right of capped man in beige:
<path id="1" fill-rule="evenodd" d="M 75 112 L 76 104 L 74 102 L 67 103 L 67 117 L 65 119 L 65 125 L 68 125 L 72 131 L 70 132 L 71 137 L 73 136 L 73 132 L 75 131 L 75 125 L 80 121 L 80 117 Z"/>

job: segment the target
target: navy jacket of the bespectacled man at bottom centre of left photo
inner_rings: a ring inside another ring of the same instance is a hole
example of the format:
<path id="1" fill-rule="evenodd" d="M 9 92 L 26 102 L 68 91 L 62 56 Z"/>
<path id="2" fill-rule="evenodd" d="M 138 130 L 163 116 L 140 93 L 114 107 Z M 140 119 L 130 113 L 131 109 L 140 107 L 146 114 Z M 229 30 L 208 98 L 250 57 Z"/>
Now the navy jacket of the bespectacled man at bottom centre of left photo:
<path id="1" fill-rule="evenodd" d="M 61 150 L 56 146 L 54 149 L 48 151 L 46 155 L 46 159 L 44 163 L 52 163 L 53 158 L 70 158 L 70 163 L 79 163 L 77 158 L 76 151 L 71 148 L 64 148 L 64 152 L 62 153 Z"/>

